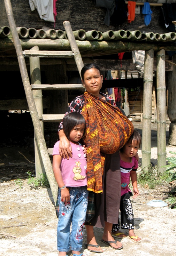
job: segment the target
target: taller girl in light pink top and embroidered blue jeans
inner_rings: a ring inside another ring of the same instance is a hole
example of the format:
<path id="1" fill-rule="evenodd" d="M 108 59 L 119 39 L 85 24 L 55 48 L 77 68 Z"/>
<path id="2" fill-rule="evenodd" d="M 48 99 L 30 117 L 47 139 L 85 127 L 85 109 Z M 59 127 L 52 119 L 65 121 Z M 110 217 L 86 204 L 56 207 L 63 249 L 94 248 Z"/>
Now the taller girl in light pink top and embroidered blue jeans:
<path id="1" fill-rule="evenodd" d="M 73 256 L 82 256 L 80 250 L 88 204 L 86 148 L 80 142 L 85 130 L 84 117 L 78 112 L 67 114 L 63 130 L 72 146 L 72 157 L 64 159 L 60 156 L 57 141 L 53 148 L 53 172 L 59 187 L 57 250 L 59 256 L 66 256 L 70 248 Z"/>

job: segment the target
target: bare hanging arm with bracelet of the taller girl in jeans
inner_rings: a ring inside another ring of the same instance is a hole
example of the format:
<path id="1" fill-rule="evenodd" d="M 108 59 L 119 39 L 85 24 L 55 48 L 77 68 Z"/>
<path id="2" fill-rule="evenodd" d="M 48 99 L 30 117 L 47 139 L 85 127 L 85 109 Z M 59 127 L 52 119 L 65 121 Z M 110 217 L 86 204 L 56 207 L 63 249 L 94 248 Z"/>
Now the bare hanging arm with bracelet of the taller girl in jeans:
<path id="1" fill-rule="evenodd" d="M 59 148 L 60 148 L 60 145 L 59 145 Z M 53 172 L 59 188 L 62 188 L 65 186 L 64 181 L 62 179 L 61 170 L 60 170 L 61 160 L 62 160 L 62 157 L 60 155 L 53 156 Z M 68 188 L 66 187 L 61 189 L 61 200 L 63 202 L 70 201 L 70 193 Z"/>

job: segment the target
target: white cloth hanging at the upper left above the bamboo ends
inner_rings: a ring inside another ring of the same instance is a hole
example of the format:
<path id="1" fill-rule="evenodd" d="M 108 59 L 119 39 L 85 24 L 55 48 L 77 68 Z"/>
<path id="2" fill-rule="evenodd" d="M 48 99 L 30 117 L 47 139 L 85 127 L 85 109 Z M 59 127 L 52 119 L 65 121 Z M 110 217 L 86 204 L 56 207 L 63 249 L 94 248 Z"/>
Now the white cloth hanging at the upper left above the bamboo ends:
<path id="1" fill-rule="evenodd" d="M 53 0 L 29 0 L 31 11 L 35 8 L 42 20 L 55 22 L 53 13 Z"/>

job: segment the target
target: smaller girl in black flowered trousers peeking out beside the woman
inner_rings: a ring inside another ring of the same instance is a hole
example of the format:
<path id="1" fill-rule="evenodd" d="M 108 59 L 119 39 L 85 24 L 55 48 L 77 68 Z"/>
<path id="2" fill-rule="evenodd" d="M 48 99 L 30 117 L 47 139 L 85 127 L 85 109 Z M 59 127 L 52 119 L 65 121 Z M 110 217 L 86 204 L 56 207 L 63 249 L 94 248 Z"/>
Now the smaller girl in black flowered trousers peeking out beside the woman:
<path id="1" fill-rule="evenodd" d="M 141 145 L 141 135 L 134 130 L 134 133 L 129 138 L 128 142 L 120 149 L 120 174 L 121 174 L 121 199 L 120 199 L 120 214 L 121 214 L 121 228 L 128 229 L 129 238 L 134 243 L 140 243 L 141 238 L 134 234 L 134 215 L 133 208 L 130 200 L 132 192 L 128 185 L 131 183 L 133 186 L 133 198 L 140 195 L 137 188 L 137 168 L 138 161 L 135 157 Z M 113 224 L 112 236 L 115 238 L 124 238 L 124 233 L 119 233 L 120 224 Z"/>

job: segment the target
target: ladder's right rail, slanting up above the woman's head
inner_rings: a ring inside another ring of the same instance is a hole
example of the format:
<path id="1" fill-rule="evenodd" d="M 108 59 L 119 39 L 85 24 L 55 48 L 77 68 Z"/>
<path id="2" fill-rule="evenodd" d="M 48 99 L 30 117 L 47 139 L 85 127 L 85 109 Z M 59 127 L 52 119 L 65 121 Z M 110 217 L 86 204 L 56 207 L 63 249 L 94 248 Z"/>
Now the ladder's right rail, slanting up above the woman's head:
<path id="1" fill-rule="evenodd" d="M 70 47 L 72 49 L 72 52 L 74 53 L 74 60 L 76 62 L 76 65 L 78 67 L 78 71 L 79 71 L 80 77 L 81 77 L 81 69 L 84 67 L 84 63 L 82 61 L 80 51 L 78 49 L 78 45 L 76 44 L 76 40 L 73 35 L 72 27 L 70 25 L 70 22 L 67 20 L 65 20 L 63 22 L 63 25 L 64 25 L 66 34 L 67 34 L 69 42 L 70 42 Z"/>

